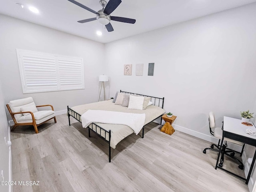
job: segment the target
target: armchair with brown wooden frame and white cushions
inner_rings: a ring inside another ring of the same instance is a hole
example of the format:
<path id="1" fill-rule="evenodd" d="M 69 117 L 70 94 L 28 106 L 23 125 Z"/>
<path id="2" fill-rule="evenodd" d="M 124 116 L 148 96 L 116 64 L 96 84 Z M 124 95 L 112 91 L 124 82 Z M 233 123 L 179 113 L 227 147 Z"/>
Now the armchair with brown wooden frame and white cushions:
<path id="1" fill-rule="evenodd" d="M 38 107 L 50 106 L 51 110 L 38 111 Z M 38 133 L 37 126 L 54 119 L 56 123 L 55 112 L 52 105 L 36 106 L 32 97 L 12 100 L 6 104 L 10 115 L 14 121 L 13 131 L 19 125 L 33 125 L 35 132 Z"/>

